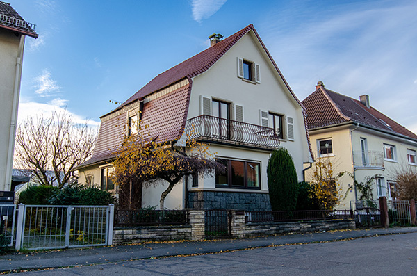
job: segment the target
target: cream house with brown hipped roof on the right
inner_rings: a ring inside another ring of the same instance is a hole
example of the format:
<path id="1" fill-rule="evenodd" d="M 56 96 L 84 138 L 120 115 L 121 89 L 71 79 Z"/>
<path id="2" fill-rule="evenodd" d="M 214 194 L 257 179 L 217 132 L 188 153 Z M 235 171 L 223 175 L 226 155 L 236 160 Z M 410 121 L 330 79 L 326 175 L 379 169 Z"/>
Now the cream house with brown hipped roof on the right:
<path id="1" fill-rule="evenodd" d="M 417 135 L 370 106 L 368 95 L 352 99 L 325 88 L 319 81 L 316 91 L 306 97 L 311 146 L 316 156 L 334 165 L 334 174 L 351 172 L 358 182 L 378 174 L 373 183 L 374 200 L 395 198 L 395 174 L 402 168 L 416 168 Z M 311 179 L 312 169 L 306 172 Z M 340 181 L 343 196 L 352 178 Z M 357 190 L 347 192 L 338 209 L 355 208 Z"/>

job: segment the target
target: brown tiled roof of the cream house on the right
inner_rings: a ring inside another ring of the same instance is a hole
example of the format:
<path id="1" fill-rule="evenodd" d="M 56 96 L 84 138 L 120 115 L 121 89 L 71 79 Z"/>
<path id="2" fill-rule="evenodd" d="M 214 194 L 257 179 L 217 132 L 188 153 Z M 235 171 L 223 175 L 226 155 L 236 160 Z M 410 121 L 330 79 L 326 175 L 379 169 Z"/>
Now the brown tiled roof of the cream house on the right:
<path id="1" fill-rule="evenodd" d="M 416 134 L 372 106 L 367 108 L 357 99 L 328 90 L 325 86 L 318 86 L 318 89 L 306 97 L 302 104 L 306 108 L 309 129 L 351 122 L 417 140 Z"/>

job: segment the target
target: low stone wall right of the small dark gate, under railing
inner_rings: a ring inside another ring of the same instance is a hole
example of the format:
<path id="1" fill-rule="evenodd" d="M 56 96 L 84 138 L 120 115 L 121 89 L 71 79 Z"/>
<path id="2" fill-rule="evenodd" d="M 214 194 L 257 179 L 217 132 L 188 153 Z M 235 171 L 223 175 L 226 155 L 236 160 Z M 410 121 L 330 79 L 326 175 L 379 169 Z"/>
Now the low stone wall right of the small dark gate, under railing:
<path id="1" fill-rule="evenodd" d="M 245 230 L 239 236 L 257 236 L 287 233 L 305 233 L 340 229 L 354 229 L 354 220 L 318 220 L 305 222 L 275 222 L 268 224 L 246 224 Z"/>

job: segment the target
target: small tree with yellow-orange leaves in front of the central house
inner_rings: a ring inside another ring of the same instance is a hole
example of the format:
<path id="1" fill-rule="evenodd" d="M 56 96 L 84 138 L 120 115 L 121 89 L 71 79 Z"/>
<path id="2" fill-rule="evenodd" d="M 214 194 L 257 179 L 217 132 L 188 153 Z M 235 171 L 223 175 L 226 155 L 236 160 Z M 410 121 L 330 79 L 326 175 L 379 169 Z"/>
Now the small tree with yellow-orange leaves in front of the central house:
<path id="1" fill-rule="evenodd" d="M 188 139 L 185 151 L 180 151 L 170 142 L 157 142 L 158 138 L 152 138 L 146 129 L 147 127 L 139 124 L 138 133 L 126 135 L 122 146 L 117 150 L 113 161 L 113 179 L 119 190 L 131 190 L 133 186 L 133 190 L 137 191 L 142 186 L 156 186 L 164 180 L 168 185 L 159 201 L 160 209 L 163 210 L 165 198 L 184 177 L 224 172 L 224 165 L 213 159 L 208 145 Z M 132 197 L 125 198 L 132 201 Z"/>

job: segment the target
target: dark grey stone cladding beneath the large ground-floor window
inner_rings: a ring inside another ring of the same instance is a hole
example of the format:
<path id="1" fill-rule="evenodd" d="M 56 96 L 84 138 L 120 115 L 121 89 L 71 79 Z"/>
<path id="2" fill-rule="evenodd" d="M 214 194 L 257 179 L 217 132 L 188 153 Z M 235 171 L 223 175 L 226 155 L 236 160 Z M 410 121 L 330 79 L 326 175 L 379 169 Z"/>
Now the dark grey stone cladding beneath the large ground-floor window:
<path id="1" fill-rule="evenodd" d="M 188 192 L 190 209 L 240 209 L 245 211 L 270 211 L 268 193 L 240 193 L 215 191 Z"/>

